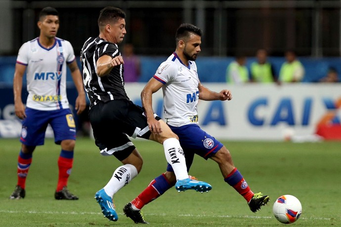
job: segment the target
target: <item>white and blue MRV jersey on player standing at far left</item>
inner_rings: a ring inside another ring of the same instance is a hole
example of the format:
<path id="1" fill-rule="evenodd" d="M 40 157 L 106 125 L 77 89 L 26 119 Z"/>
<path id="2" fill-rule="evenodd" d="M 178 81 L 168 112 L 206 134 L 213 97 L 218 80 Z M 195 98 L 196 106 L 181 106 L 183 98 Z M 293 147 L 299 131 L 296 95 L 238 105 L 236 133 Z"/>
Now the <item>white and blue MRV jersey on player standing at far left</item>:
<path id="1" fill-rule="evenodd" d="M 26 106 L 41 111 L 68 109 L 66 64 L 74 60 L 74 50 L 67 40 L 55 38 L 48 49 L 40 44 L 39 38 L 25 42 L 20 47 L 17 64 L 27 66 Z"/>

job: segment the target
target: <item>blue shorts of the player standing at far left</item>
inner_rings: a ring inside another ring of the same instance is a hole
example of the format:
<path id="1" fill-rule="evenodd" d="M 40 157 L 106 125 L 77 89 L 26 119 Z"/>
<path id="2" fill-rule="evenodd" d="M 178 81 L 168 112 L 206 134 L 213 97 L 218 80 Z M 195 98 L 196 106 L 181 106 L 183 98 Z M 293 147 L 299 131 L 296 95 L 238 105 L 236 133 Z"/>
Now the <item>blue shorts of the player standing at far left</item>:
<path id="1" fill-rule="evenodd" d="M 20 142 L 24 145 L 43 145 L 48 124 L 52 127 L 56 144 L 63 140 L 76 140 L 76 125 L 70 109 L 39 111 L 26 108 L 25 114 L 27 117 L 22 121 L 20 135 Z"/>

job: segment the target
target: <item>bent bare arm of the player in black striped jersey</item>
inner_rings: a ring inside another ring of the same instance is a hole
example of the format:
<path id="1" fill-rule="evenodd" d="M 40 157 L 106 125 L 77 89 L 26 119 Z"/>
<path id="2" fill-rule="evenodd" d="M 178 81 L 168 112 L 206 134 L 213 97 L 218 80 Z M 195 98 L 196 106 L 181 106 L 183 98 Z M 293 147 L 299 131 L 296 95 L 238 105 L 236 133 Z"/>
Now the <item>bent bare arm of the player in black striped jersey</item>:
<path id="1" fill-rule="evenodd" d="M 109 55 L 102 55 L 96 62 L 96 74 L 97 76 L 106 76 L 115 67 L 124 64 L 121 55 L 111 58 Z"/>

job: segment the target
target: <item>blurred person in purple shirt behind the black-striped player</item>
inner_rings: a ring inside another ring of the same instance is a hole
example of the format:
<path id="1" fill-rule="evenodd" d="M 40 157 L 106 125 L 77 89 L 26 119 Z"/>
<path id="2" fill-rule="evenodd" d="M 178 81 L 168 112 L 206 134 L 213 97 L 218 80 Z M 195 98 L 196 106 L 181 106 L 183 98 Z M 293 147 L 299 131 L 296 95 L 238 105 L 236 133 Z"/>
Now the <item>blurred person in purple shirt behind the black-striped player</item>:
<path id="1" fill-rule="evenodd" d="M 123 46 L 123 60 L 125 64 L 125 82 L 137 82 L 140 77 L 140 59 L 134 54 L 134 47 L 131 43 Z"/>

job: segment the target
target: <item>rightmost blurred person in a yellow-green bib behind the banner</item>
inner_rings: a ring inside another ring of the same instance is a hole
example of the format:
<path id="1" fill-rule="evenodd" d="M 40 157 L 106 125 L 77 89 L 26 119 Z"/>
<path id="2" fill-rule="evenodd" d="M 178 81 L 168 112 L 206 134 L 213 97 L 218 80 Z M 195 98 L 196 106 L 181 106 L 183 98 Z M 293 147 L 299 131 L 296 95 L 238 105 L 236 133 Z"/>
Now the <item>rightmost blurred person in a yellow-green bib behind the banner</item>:
<path id="1" fill-rule="evenodd" d="M 281 67 L 278 80 L 281 82 L 301 81 L 304 76 L 304 67 L 296 58 L 295 51 L 286 51 L 285 58 L 286 62 Z"/>

